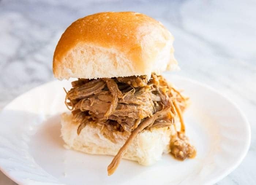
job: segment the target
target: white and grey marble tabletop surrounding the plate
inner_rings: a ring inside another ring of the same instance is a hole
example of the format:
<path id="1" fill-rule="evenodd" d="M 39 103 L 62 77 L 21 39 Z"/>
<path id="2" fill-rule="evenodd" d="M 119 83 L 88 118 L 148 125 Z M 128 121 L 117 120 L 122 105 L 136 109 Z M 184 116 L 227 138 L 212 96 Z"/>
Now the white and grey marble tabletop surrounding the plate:
<path id="1" fill-rule="evenodd" d="M 178 75 L 229 97 L 251 124 L 242 164 L 218 185 L 256 184 L 256 1 L 0 0 L 0 109 L 53 80 L 52 56 L 65 28 L 95 12 L 137 11 L 172 32 Z M 0 185 L 15 183 L 0 172 Z"/>

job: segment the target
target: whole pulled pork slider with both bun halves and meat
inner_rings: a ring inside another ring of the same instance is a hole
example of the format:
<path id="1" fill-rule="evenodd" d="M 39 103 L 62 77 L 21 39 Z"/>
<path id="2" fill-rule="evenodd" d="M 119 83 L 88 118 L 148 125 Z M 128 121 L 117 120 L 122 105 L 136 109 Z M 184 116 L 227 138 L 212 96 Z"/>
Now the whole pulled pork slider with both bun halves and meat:
<path id="1" fill-rule="evenodd" d="M 177 68 L 173 36 L 141 13 L 103 12 L 72 23 L 53 57 L 58 79 L 77 78 L 61 119 L 68 147 L 151 165 L 163 153 L 184 160 L 196 155 L 184 135 L 188 98 L 161 72 Z"/>

